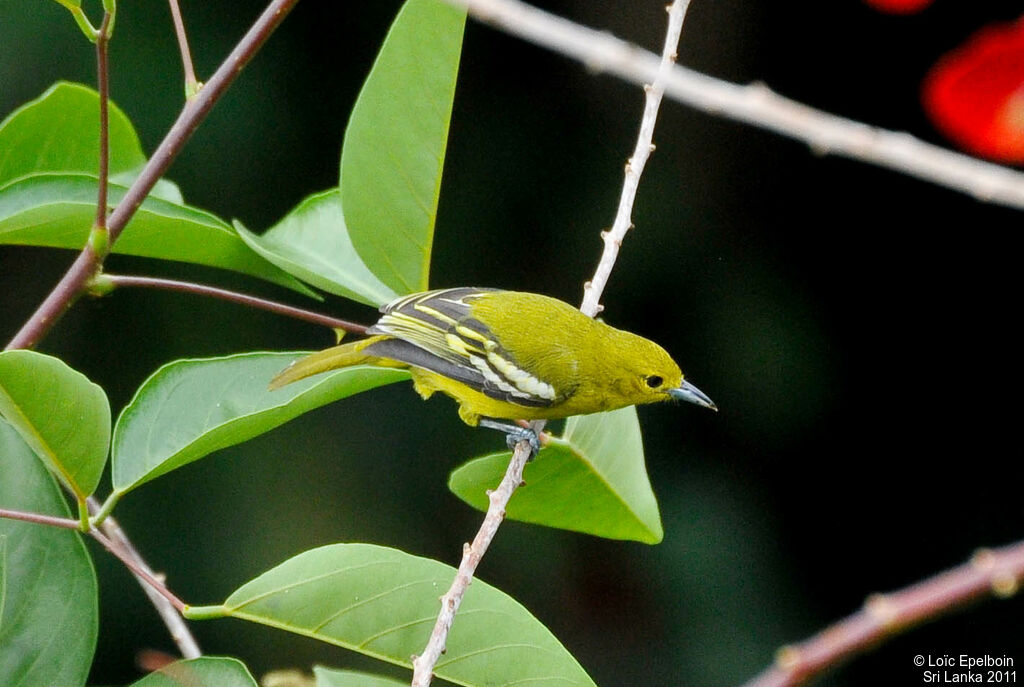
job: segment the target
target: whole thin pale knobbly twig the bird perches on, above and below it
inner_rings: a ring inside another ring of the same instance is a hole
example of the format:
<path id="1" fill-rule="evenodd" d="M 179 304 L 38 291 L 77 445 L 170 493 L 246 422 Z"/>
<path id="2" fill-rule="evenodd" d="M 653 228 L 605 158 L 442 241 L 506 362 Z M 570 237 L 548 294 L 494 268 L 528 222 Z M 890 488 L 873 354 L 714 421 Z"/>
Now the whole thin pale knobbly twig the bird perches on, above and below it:
<path id="1" fill-rule="evenodd" d="M 679 36 L 682 32 L 683 19 L 686 16 L 686 8 L 688 6 L 689 0 L 676 0 L 668 8 L 669 29 L 666 32 L 663 60 L 669 67 L 676 59 Z M 607 238 L 611 232 L 604 232 L 605 250 L 598 264 L 598 272 L 595 273 L 591 282 L 588 282 L 586 287 L 587 296 L 593 294 L 595 304 L 600 299 L 604 285 L 607 283 L 608 275 L 614 266 L 615 256 L 618 254 L 618 246 L 622 244 L 622 234 L 625 234 L 630 226 L 633 200 L 636 198 L 640 173 L 643 171 L 643 166 L 652 149 L 651 137 L 653 136 L 654 123 L 657 120 L 657 108 L 662 100 L 659 94 L 664 91 L 665 77 L 668 76 L 669 67 L 659 70 L 652 80 L 652 85 L 645 88 L 647 96 L 645 98 L 643 119 L 640 124 L 640 134 L 633 154 L 633 160 L 631 160 L 633 165 L 627 165 L 626 181 L 615 218 L 615 228 L 613 229 L 613 231 L 621 230 L 622 233 L 618 240 L 613 242 L 614 245 L 612 246 Z M 634 169 L 631 170 L 631 166 Z M 587 306 L 588 302 L 585 298 L 580 309 L 591 317 L 595 316 L 599 308 L 594 307 L 593 311 L 588 311 L 586 309 Z M 544 425 L 544 421 L 540 421 L 534 422 L 530 427 L 540 436 Z M 462 599 L 466 594 L 466 590 L 469 589 L 470 583 L 473 582 L 473 575 L 480 564 L 480 560 L 483 558 L 483 554 L 490 546 L 490 542 L 498 533 L 498 528 L 505 519 L 505 512 L 508 509 L 512 495 L 522 484 L 522 471 L 526 466 L 529 455 L 530 447 L 527 441 L 517 443 L 501 484 L 499 484 L 497 489 L 487 492 L 487 513 L 483 517 L 480 529 L 476 532 L 476 536 L 473 538 L 473 543 L 467 544 L 463 548 L 459 570 L 456 572 L 455 579 L 452 581 L 449 591 L 441 597 L 441 609 L 437 615 L 436 622 L 434 622 L 434 629 L 430 633 L 430 639 L 427 641 L 426 647 L 420 655 L 413 656 L 412 687 L 427 687 L 430 684 L 434 668 L 441 654 L 444 653 L 449 632 L 452 629 L 452 624 L 455 621 L 459 606 L 462 605 Z"/>

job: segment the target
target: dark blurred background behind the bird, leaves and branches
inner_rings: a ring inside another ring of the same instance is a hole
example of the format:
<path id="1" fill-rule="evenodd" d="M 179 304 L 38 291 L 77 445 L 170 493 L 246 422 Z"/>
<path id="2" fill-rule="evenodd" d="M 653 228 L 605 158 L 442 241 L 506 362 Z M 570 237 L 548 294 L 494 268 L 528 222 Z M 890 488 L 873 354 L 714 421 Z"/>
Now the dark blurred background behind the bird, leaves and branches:
<path id="1" fill-rule="evenodd" d="M 658 50 L 663 0 L 545 2 Z M 968 6 L 970 4 L 970 6 Z M 264 229 L 337 182 L 347 113 L 399 3 L 306 0 L 169 172 L 186 200 Z M 182 0 L 207 76 L 260 3 Z M 98 2 L 86 2 L 96 15 Z M 764 81 L 844 116 L 941 142 L 919 106 L 929 66 L 1019 5 L 939 0 L 910 17 L 854 0 L 694 0 L 681 61 Z M 153 151 L 182 99 L 166 3 L 122 2 L 112 93 Z M 91 46 L 54 2 L 0 4 L 0 117 L 56 79 L 93 84 Z M 614 215 L 639 88 L 470 22 L 431 284 L 579 302 Z M 1021 538 L 1021 215 L 666 101 L 657 151 L 605 294 L 722 409 L 646 407 L 655 547 L 507 523 L 480 576 L 521 600 L 601 685 L 727 685 L 864 597 Z M 2 155 L 2 152 L 0 152 Z M 6 341 L 70 252 L 0 248 Z M 296 300 L 242 276 L 120 256 L 165 274 Z M 305 303 L 300 303 L 306 305 Z M 329 298 L 322 309 L 374 313 Z M 196 297 L 122 292 L 78 304 L 42 343 L 118 412 L 178 357 L 316 348 L 327 333 Z M 170 587 L 214 603 L 306 549 L 374 542 L 456 564 L 480 516 L 445 488 L 494 449 L 450 401 L 403 385 L 302 417 L 131 495 L 118 516 Z M 2 478 L 2 476 L 0 476 Z M 93 684 L 172 651 L 128 573 L 97 552 Z M 918 653 L 1024 659 L 1019 599 L 986 601 L 887 643 L 827 684 L 920 684 Z M 313 662 L 389 669 L 234 620 L 194 624 L 204 649 L 260 675 Z"/>

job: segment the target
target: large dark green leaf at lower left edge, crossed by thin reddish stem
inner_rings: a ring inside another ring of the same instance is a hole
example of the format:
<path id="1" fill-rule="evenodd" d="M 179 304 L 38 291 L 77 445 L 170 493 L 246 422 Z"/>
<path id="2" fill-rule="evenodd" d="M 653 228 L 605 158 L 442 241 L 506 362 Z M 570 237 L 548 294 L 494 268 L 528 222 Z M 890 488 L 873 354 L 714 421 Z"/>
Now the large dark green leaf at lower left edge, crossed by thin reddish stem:
<path id="1" fill-rule="evenodd" d="M 69 517 L 53 478 L 0 420 L 0 508 Z M 0 685 L 83 685 L 96 647 L 96 575 L 79 534 L 0 518 Z"/>

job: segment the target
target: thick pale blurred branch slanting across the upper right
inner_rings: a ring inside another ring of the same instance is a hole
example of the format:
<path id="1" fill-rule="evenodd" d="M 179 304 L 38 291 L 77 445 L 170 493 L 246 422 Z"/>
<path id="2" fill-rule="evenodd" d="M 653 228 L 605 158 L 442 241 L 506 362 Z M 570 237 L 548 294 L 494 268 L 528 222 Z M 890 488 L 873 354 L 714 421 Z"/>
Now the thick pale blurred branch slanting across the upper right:
<path id="1" fill-rule="evenodd" d="M 647 83 L 657 55 L 605 32 L 580 26 L 518 0 L 447 0 L 486 24 L 579 59 L 595 72 Z M 819 155 L 859 160 L 953 190 L 1024 209 L 1024 173 L 927 143 L 910 134 L 838 117 L 775 93 L 675 66 L 665 94 L 692 108 L 804 141 Z"/>

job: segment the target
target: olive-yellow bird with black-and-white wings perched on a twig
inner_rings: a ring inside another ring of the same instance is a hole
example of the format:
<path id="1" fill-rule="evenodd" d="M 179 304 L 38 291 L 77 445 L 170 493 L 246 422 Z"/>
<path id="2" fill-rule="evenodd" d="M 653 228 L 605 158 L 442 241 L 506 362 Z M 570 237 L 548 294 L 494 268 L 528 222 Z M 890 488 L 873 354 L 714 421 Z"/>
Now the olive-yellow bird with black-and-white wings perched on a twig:
<path id="1" fill-rule="evenodd" d="M 567 418 L 626 405 L 685 400 L 717 411 L 652 341 L 592 319 L 548 296 L 461 287 L 413 294 L 381 308 L 366 339 L 296 360 L 270 388 L 317 373 L 370 364 L 409 370 L 423 398 L 441 391 L 459 417 L 508 434 L 498 420 Z"/>

